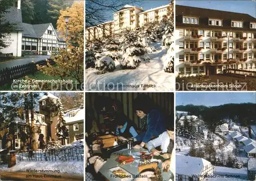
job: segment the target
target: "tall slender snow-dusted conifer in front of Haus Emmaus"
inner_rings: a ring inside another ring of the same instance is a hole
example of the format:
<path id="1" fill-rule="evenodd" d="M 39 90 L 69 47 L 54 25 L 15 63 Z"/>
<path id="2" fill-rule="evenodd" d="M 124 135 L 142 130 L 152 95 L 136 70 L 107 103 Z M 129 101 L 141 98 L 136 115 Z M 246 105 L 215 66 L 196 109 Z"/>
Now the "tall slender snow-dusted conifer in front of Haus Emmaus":
<path id="1" fill-rule="evenodd" d="M 63 106 L 60 99 L 57 99 L 57 107 L 58 107 L 58 122 L 55 125 L 56 135 L 58 139 L 61 140 L 61 144 L 64 144 L 64 140 L 66 137 L 69 137 L 68 128 L 65 126 L 66 121 L 64 120 L 64 112 Z"/>

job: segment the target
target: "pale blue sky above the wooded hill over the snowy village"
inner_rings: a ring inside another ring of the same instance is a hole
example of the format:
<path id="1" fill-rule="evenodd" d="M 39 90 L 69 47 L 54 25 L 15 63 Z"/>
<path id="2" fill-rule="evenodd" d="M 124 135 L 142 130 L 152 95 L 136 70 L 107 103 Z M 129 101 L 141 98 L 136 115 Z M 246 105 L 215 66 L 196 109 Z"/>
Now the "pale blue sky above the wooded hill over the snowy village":
<path id="1" fill-rule="evenodd" d="M 256 93 L 176 93 L 177 105 L 217 106 L 228 103 L 256 103 Z"/>

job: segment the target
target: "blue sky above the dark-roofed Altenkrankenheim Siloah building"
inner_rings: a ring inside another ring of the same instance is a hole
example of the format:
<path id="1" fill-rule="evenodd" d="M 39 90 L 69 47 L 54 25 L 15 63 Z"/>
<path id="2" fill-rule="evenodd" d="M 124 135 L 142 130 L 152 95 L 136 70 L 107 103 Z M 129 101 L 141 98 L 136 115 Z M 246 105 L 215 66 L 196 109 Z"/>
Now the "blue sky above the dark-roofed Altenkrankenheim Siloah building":
<path id="1" fill-rule="evenodd" d="M 212 0 L 199 0 L 199 1 L 183 1 L 177 0 L 176 5 L 192 6 L 198 8 L 216 9 L 222 11 L 238 12 L 249 14 L 256 17 L 256 1 L 212 1 Z"/>

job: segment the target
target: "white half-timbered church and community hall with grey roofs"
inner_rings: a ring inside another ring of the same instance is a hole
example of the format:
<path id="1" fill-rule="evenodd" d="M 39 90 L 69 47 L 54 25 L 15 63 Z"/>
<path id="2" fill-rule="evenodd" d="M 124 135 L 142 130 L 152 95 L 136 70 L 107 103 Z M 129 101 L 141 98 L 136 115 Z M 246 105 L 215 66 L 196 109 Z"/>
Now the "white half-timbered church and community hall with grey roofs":
<path id="1" fill-rule="evenodd" d="M 16 57 L 23 54 L 51 55 L 59 49 L 66 49 L 65 40 L 59 37 L 60 32 L 54 30 L 51 23 L 39 25 L 23 23 L 20 0 L 3 13 L 1 26 L 4 26 L 5 22 L 14 24 L 14 31 L 2 38 L 8 45 L 0 49 L 2 54 L 13 54 Z"/>

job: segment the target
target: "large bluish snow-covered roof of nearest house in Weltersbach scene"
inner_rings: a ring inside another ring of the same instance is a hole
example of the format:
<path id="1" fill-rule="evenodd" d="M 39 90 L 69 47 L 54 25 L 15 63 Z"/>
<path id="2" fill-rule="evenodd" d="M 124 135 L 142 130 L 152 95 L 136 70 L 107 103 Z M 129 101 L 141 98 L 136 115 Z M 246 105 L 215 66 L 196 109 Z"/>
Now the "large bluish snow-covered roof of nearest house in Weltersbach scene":
<path id="1" fill-rule="evenodd" d="M 176 174 L 199 175 L 206 165 L 210 165 L 210 162 L 200 157 L 176 154 Z"/>

